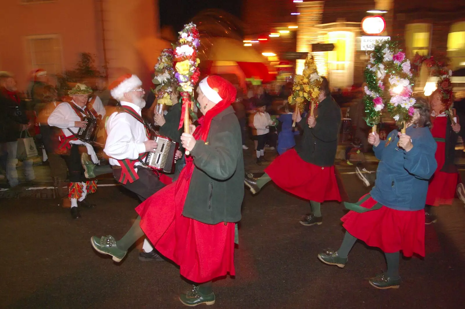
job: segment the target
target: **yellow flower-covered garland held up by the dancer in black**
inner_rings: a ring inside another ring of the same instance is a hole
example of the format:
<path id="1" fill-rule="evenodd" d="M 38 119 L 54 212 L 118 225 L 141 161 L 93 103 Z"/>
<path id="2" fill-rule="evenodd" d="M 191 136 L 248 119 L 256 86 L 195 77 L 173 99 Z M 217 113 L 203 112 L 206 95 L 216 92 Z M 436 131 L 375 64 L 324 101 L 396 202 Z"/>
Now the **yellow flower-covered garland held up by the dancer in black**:
<path id="1" fill-rule="evenodd" d="M 315 106 L 319 103 L 319 87 L 322 80 L 323 79 L 318 75 L 317 66 L 313 61 L 313 57 L 307 57 L 302 75 L 296 75 L 294 77 L 292 95 L 288 98 L 289 104 L 296 105 L 294 110 L 296 115 L 297 110 L 303 111 L 305 102 L 310 101 L 310 115 L 313 116 Z M 292 123 L 292 126 L 295 127 L 295 121 Z"/>

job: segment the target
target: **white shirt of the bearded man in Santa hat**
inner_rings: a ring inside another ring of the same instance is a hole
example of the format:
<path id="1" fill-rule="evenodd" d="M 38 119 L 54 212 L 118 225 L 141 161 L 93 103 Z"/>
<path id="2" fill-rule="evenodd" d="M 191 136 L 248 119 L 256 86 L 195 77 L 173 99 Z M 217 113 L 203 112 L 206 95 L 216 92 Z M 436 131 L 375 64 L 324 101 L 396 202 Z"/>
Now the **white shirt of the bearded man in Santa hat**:
<path id="1" fill-rule="evenodd" d="M 120 102 L 123 106 L 133 108 L 140 115 L 140 107 L 129 102 Z M 120 165 L 118 160 L 139 158 L 146 152 L 144 142 L 148 140 L 145 126 L 127 112 L 114 112 L 106 122 L 107 138 L 103 151 L 111 165 Z M 141 165 L 136 162 L 134 165 Z"/>

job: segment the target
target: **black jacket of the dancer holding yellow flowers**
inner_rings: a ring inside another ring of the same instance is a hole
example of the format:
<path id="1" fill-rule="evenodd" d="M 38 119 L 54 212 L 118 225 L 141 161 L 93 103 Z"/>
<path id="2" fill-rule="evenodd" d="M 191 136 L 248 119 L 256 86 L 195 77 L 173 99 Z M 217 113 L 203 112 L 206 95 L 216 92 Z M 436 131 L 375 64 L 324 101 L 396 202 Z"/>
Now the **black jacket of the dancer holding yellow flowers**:
<path id="1" fill-rule="evenodd" d="M 299 122 L 304 129 L 301 145 L 296 147 L 302 160 L 318 166 L 334 165 L 338 149 L 341 109 L 331 96 L 321 101 L 317 108 L 317 124 L 309 128 L 307 119 Z"/>

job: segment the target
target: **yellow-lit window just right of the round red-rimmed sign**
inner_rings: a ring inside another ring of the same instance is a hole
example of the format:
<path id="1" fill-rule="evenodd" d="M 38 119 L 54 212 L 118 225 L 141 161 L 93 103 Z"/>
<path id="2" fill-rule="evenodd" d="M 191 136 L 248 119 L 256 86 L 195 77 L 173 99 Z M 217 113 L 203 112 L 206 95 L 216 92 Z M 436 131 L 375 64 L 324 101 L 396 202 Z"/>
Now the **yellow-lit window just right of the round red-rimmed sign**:
<path id="1" fill-rule="evenodd" d="M 408 24 L 405 26 L 405 47 L 407 57 L 416 53 L 422 56 L 430 54 L 431 24 Z"/>

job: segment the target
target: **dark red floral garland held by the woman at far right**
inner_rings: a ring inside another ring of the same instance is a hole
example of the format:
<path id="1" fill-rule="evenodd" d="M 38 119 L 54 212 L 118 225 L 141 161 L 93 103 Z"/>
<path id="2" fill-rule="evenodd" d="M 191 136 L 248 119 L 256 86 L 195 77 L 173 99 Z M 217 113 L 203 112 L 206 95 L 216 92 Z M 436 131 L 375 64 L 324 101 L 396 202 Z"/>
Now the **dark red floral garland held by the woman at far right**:
<path id="1" fill-rule="evenodd" d="M 414 72 L 418 75 L 419 69 L 423 63 L 426 63 L 428 67 L 431 68 L 430 76 L 438 77 L 438 83 L 436 84 L 437 89 L 441 95 L 442 104 L 445 107 L 445 113 L 451 119 L 452 125 L 455 125 L 453 118 L 452 105 L 453 105 L 453 91 L 452 91 L 452 70 L 449 70 L 445 62 L 435 60 L 433 56 L 426 58 L 420 56 L 418 53 L 413 57 L 413 69 Z"/>

